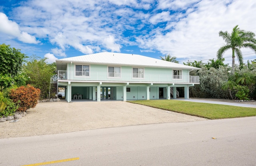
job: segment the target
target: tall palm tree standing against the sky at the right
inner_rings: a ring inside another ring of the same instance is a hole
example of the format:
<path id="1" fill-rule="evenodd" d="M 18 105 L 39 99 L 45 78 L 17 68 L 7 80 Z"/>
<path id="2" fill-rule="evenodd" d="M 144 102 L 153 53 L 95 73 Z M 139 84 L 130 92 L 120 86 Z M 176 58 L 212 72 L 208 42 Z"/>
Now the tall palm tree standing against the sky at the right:
<path id="1" fill-rule="evenodd" d="M 220 31 L 219 36 L 224 39 L 226 45 L 220 47 L 217 52 L 218 59 L 223 58 L 223 54 L 228 50 L 232 49 L 232 71 L 234 72 L 235 68 L 235 53 L 238 58 L 240 66 L 243 65 L 243 56 L 241 48 L 252 49 L 256 53 L 256 39 L 254 38 L 255 34 L 251 31 L 245 31 L 240 29 L 238 25 L 233 28 L 233 31 L 228 33 L 228 31 Z"/>

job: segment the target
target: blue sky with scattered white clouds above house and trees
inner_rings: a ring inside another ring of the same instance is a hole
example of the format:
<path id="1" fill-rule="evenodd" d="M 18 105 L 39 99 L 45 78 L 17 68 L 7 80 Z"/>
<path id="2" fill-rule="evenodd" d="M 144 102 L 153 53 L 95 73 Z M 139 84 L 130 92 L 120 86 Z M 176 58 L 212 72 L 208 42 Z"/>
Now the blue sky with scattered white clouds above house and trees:
<path id="1" fill-rule="evenodd" d="M 0 44 L 48 62 L 106 51 L 207 62 L 224 44 L 220 30 L 256 33 L 255 16 L 255 0 L 0 0 Z"/>

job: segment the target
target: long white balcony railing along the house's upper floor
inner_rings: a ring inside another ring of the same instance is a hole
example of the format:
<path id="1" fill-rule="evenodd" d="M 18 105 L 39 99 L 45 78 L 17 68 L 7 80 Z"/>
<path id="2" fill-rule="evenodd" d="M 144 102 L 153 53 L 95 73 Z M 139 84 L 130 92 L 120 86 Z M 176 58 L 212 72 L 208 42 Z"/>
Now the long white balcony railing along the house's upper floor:
<path id="1" fill-rule="evenodd" d="M 178 82 L 199 83 L 199 76 L 174 76 L 165 74 L 126 74 L 109 72 L 68 72 L 58 70 L 58 80 L 118 81 L 118 82 Z"/>

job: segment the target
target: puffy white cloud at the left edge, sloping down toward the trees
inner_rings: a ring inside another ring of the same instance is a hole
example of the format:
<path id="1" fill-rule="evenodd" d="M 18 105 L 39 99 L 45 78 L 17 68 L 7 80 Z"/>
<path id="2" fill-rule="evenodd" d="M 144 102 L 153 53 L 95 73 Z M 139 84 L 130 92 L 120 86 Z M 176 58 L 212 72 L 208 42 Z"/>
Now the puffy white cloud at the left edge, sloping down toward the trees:
<path id="1" fill-rule="evenodd" d="M 1 32 L 12 35 L 13 37 L 18 38 L 24 43 L 39 43 L 38 41 L 36 41 L 36 37 L 29 35 L 27 32 L 20 31 L 19 25 L 14 21 L 8 20 L 6 14 L 0 12 L 0 20 Z"/>

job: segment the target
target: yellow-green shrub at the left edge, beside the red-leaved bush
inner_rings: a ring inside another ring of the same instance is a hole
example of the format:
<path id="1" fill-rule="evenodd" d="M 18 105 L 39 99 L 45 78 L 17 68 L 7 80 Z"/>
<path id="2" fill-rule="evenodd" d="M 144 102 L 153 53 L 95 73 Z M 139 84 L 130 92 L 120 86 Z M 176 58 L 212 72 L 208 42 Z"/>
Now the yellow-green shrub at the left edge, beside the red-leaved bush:
<path id="1" fill-rule="evenodd" d="M 13 115 L 18 109 L 18 106 L 12 102 L 12 100 L 4 97 L 3 93 L 0 92 L 0 117 Z"/>

